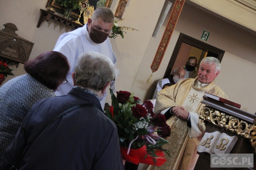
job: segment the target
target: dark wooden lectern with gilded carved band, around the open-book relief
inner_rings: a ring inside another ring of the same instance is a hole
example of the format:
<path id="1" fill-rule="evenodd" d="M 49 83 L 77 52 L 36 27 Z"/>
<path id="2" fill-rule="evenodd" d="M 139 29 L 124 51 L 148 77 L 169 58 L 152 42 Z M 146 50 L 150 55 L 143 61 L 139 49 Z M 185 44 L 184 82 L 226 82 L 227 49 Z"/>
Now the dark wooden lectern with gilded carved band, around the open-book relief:
<path id="1" fill-rule="evenodd" d="M 236 135 L 238 140 L 230 153 L 254 153 L 254 168 L 239 169 L 256 169 L 256 115 L 207 96 L 203 96 L 201 103 L 205 106 L 202 108 L 199 118 L 203 119 L 206 125 L 205 132 L 218 131 L 229 136 Z M 211 155 L 207 152 L 197 152 L 197 154 L 199 154 L 199 158 L 195 170 L 238 169 L 211 168 Z"/>

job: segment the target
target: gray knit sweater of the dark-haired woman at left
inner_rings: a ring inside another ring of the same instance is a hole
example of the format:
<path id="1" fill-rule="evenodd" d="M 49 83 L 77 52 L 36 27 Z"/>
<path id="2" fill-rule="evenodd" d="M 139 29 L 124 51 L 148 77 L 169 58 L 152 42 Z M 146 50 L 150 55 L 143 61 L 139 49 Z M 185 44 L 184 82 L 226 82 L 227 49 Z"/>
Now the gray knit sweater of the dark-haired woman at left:
<path id="1" fill-rule="evenodd" d="M 20 75 L 0 88 L 0 159 L 13 141 L 33 104 L 54 92 L 29 74 Z"/>

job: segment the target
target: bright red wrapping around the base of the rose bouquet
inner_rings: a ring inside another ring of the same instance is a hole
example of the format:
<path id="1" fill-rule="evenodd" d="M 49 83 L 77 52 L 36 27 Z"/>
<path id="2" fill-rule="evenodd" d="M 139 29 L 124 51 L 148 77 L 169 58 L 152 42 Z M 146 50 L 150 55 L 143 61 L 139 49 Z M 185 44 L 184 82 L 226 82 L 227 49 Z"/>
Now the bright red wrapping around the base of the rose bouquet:
<path id="1" fill-rule="evenodd" d="M 130 149 L 129 155 L 127 154 L 128 148 L 120 146 L 122 158 L 126 160 L 127 162 L 133 163 L 133 164 L 148 164 L 148 165 L 156 165 L 156 166 L 161 166 L 166 162 L 165 155 L 163 154 L 162 151 L 156 151 L 156 155 L 158 157 L 155 157 L 156 163 L 153 162 L 153 157 L 152 156 L 147 156 L 146 158 L 145 155 L 147 154 L 147 148 L 146 145 L 139 149 Z"/>

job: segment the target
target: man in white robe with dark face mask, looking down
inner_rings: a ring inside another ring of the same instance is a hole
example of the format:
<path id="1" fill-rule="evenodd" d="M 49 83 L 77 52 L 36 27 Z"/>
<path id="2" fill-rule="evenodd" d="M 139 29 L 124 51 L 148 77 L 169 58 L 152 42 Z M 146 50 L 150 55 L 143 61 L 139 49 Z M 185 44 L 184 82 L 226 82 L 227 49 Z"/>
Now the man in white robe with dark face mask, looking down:
<path id="1" fill-rule="evenodd" d="M 114 14 L 108 7 L 97 7 L 88 22 L 81 28 L 62 34 L 53 51 L 58 51 L 67 56 L 70 71 L 67 75 L 68 83 L 60 85 L 55 92 L 56 96 L 68 94 L 72 89 L 73 81 L 71 73 L 77 57 L 88 51 L 95 51 L 109 57 L 116 67 L 117 57 L 112 50 L 110 40 L 108 38 L 112 31 L 114 23 Z M 119 74 L 119 70 L 115 69 L 115 78 Z M 111 82 L 110 88 L 115 92 L 115 79 Z M 104 109 L 106 94 L 101 98 L 101 107 Z"/>

